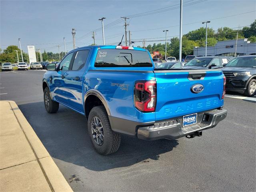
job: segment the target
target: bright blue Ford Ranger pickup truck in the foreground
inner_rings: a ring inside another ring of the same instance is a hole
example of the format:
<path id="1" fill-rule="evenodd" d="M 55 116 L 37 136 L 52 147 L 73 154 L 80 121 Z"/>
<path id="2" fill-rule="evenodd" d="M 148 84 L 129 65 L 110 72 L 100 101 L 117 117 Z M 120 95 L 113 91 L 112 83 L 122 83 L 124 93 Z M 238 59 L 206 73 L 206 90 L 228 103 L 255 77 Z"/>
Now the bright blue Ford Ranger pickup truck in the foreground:
<path id="1" fill-rule="evenodd" d="M 48 64 L 46 111 L 59 104 L 83 114 L 95 150 L 118 150 L 121 134 L 143 140 L 202 136 L 226 118 L 219 69 L 154 69 L 150 53 L 128 46 L 86 46 Z"/>

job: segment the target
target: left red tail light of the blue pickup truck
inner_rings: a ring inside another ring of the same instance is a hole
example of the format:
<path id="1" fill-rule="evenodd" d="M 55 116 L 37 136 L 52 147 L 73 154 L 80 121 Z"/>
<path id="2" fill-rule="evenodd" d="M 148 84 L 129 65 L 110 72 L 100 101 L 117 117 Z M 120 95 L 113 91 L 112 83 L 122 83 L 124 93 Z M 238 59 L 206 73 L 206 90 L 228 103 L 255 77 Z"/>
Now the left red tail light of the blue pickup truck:
<path id="1" fill-rule="evenodd" d="M 134 105 L 142 112 L 154 112 L 156 110 L 156 81 L 135 83 Z"/>

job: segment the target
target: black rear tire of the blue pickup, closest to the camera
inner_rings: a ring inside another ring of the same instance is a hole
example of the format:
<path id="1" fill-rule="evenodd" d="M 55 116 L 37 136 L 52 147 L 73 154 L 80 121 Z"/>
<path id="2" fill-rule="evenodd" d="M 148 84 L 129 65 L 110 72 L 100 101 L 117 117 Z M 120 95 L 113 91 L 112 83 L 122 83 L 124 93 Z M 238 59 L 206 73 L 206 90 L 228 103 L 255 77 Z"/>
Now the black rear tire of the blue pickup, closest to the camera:
<path id="1" fill-rule="evenodd" d="M 98 118 L 100 120 L 100 124 L 103 130 L 100 132 L 101 134 L 103 132 L 103 135 L 104 135 L 103 140 L 101 140 L 102 142 L 101 144 L 97 144 L 98 140 L 97 139 L 96 139 L 97 141 L 94 140 L 94 136 L 96 137 L 96 134 L 92 133 L 93 132 L 92 122 L 94 122 L 94 118 Z M 96 152 L 102 155 L 108 155 L 116 152 L 121 143 L 121 135 L 112 131 L 110 122 L 108 119 L 108 114 L 104 106 L 96 106 L 92 108 L 92 110 L 90 111 L 90 114 L 88 117 L 88 134 L 90 136 L 94 149 L 96 150 Z"/>

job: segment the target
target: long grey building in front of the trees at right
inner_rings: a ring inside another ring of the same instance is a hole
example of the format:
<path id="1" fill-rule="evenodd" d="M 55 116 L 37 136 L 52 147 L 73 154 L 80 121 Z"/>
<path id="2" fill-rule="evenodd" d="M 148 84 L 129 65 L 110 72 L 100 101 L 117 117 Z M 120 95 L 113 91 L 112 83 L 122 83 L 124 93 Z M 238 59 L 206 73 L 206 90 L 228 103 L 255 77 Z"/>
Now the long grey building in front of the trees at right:
<path id="1" fill-rule="evenodd" d="M 256 43 L 250 43 L 247 39 L 219 41 L 213 47 L 207 47 L 207 56 L 234 56 L 256 54 Z M 195 47 L 195 56 L 205 56 L 205 47 Z"/>

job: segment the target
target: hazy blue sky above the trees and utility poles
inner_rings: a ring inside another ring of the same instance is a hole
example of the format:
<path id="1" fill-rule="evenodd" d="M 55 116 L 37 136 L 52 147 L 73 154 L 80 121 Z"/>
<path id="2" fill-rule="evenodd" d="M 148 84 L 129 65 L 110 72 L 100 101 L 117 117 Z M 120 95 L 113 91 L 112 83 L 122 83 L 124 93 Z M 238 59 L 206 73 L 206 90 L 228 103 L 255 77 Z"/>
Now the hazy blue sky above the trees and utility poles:
<path id="1" fill-rule="evenodd" d="M 106 17 L 104 25 L 107 26 L 120 16 L 150 12 L 128 20 L 128 30 L 132 32 L 135 46 L 142 46 L 138 41 L 143 38 L 164 39 L 162 30 L 165 29 L 169 30 L 168 36 L 178 36 L 180 10 L 175 5 L 179 3 L 180 0 L 0 0 L 0 47 L 5 49 L 8 45 L 18 45 L 18 38 L 21 38 L 25 52 L 27 45 L 35 45 L 41 51 L 58 52 L 58 44 L 64 51 L 65 37 L 67 50 L 70 51 L 73 48 L 72 28 L 76 29 L 76 46 L 92 44 L 91 32 L 96 29 L 96 44 L 102 44 L 99 18 Z M 182 34 L 204 26 L 201 23 L 203 20 L 211 20 L 209 27 L 216 30 L 222 26 L 248 26 L 256 19 L 255 0 L 184 0 L 183 3 L 191 4 L 183 8 Z M 151 12 L 168 6 L 173 6 L 173 9 L 156 14 Z M 245 12 L 250 13 L 242 14 Z M 241 15 L 232 16 L 235 14 Z M 221 17 L 226 18 L 216 19 Z M 124 21 L 105 28 L 106 44 L 121 40 L 123 25 Z M 147 42 L 146 46 L 153 43 Z"/>

